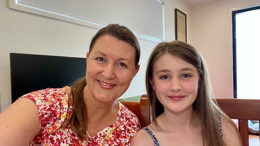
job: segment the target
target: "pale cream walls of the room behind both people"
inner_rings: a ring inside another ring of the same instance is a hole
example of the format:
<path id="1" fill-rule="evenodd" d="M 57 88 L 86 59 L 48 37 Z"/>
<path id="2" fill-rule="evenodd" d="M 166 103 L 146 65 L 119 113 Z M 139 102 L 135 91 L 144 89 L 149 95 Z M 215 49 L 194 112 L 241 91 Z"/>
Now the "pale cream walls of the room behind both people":
<path id="1" fill-rule="evenodd" d="M 216 97 L 233 97 L 231 11 L 260 5 L 259 0 L 218 0 L 189 7 L 164 0 L 166 41 L 175 39 L 174 9 L 187 14 L 187 40 L 209 65 Z M 0 1 L 0 99 L 2 111 L 11 104 L 9 53 L 85 57 L 97 30 L 47 17 L 10 10 Z M 144 72 L 155 42 L 141 40 L 141 68 L 124 97 L 145 94 Z M 139 88 L 141 91 L 135 92 Z"/>

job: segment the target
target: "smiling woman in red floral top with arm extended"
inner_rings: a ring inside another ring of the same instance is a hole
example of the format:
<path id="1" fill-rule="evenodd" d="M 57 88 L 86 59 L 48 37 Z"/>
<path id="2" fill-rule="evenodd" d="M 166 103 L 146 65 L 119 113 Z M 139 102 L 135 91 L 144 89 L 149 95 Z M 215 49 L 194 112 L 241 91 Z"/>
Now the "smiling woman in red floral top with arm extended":
<path id="1" fill-rule="evenodd" d="M 128 28 L 102 28 L 87 52 L 86 77 L 15 101 L 0 115 L 1 144 L 129 145 L 140 124 L 116 99 L 138 72 L 139 59 L 138 40 Z"/>

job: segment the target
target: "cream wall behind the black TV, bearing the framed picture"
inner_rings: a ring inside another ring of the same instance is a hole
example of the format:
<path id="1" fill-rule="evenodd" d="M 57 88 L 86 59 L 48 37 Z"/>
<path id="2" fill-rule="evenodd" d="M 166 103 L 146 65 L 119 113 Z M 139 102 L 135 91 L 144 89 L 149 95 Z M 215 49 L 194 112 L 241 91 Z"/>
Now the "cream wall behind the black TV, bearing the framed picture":
<path id="1" fill-rule="evenodd" d="M 189 42 L 191 37 L 189 6 L 182 3 L 181 0 L 164 0 L 164 5 L 166 41 L 175 39 L 174 9 L 178 8 L 187 14 L 187 39 Z M 97 32 L 86 26 L 10 10 L 6 1 L 0 1 L 0 20 L 0 103 L 2 111 L 11 104 L 9 53 L 85 57 L 90 39 Z M 146 61 L 157 43 L 142 39 L 139 41 L 141 68 L 128 91 L 123 95 L 124 98 L 145 94 Z"/>

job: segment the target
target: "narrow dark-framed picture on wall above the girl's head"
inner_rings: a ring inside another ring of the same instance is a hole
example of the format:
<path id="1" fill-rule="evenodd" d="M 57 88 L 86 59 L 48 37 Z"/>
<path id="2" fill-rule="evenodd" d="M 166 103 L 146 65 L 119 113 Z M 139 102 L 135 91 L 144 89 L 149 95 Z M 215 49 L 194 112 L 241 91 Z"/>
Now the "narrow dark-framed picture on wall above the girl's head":
<path id="1" fill-rule="evenodd" d="M 175 39 L 187 42 L 187 21 L 186 14 L 175 9 Z"/>

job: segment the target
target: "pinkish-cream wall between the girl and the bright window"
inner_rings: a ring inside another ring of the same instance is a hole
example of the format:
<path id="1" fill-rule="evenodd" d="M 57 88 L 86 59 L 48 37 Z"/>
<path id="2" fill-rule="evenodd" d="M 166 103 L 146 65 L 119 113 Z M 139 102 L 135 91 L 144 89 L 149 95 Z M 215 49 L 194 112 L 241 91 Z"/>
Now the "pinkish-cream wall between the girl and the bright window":
<path id="1" fill-rule="evenodd" d="M 258 5 L 259 0 L 217 0 L 191 8 L 190 43 L 208 62 L 217 98 L 233 98 L 231 11 Z"/>

